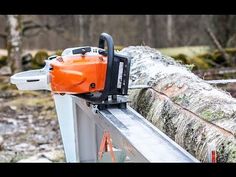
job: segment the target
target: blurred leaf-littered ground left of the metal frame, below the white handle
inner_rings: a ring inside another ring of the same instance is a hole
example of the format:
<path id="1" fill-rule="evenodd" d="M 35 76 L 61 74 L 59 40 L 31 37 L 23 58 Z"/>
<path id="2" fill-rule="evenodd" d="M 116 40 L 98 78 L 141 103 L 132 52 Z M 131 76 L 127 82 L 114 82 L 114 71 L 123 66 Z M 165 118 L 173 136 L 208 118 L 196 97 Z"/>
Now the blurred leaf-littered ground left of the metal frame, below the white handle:
<path id="1" fill-rule="evenodd" d="M 0 78 L 0 162 L 65 162 L 51 93 L 19 91 Z"/>

